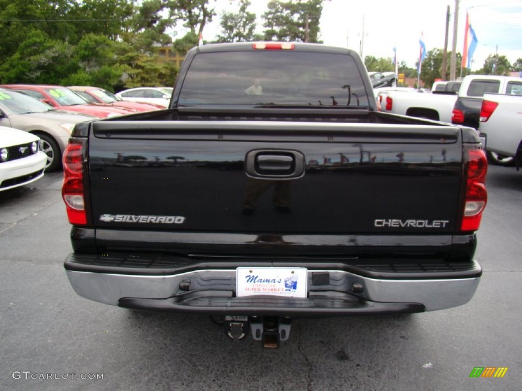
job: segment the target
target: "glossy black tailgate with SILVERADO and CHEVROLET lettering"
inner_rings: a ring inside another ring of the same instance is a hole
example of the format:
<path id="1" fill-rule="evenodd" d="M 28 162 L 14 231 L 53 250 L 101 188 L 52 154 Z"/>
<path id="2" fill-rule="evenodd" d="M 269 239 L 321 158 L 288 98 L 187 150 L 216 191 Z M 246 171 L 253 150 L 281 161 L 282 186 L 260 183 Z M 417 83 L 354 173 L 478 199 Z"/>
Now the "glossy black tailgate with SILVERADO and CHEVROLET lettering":
<path id="1" fill-rule="evenodd" d="M 449 126 L 228 121 L 92 123 L 102 229 L 448 234 L 461 142 Z"/>

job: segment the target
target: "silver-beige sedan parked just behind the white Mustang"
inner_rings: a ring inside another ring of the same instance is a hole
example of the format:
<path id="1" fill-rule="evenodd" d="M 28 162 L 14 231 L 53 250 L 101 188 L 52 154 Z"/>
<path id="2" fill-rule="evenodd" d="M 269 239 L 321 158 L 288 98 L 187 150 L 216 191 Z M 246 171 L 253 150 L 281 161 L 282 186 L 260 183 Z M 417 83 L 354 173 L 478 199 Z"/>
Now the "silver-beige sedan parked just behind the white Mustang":
<path id="1" fill-rule="evenodd" d="M 55 110 L 27 94 L 0 89 L 0 125 L 40 137 L 40 149 L 47 155 L 46 171 L 61 167 L 62 153 L 75 124 L 95 118 Z"/>

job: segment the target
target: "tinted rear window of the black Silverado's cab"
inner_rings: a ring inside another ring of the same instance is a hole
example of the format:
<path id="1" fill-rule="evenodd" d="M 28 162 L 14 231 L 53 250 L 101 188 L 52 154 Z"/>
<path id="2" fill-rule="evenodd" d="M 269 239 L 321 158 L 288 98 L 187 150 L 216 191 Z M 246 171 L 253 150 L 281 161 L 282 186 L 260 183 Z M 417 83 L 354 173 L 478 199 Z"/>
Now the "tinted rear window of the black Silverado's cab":
<path id="1" fill-rule="evenodd" d="M 369 97 L 346 54 L 218 52 L 194 57 L 179 104 L 368 107 Z"/>

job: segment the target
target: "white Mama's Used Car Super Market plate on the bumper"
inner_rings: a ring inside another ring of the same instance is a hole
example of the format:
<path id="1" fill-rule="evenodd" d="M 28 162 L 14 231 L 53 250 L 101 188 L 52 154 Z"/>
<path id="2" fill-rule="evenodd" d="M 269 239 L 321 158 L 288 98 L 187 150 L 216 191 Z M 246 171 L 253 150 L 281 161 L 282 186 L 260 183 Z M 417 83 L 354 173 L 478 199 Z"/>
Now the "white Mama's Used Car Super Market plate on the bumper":
<path id="1" fill-rule="evenodd" d="M 236 295 L 306 298 L 308 271 L 304 267 L 238 267 Z"/>

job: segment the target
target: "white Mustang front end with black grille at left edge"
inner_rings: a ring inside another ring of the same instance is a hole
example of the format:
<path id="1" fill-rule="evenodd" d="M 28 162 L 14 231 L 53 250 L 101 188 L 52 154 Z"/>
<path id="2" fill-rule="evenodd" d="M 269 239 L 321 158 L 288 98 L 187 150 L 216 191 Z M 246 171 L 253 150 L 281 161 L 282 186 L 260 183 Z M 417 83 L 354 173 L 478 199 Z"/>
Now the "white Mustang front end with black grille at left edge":
<path id="1" fill-rule="evenodd" d="M 0 191 L 43 177 L 47 156 L 40 138 L 23 130 L 0 126 Z"/>

